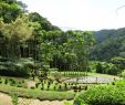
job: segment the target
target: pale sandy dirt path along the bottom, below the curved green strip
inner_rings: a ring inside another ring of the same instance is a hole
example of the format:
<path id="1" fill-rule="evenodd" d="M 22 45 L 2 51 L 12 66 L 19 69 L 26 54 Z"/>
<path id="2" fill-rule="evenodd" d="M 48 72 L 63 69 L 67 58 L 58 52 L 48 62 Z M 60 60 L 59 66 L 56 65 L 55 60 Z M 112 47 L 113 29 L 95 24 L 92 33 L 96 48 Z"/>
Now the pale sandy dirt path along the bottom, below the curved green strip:
<path id="1" fill-rule="evenodd" d="M 64 105 L 66 101 L 39 101 L 19 98 L 19 105 Z M 7 94 L 0 93 L 0 105 L 12 105 L 11 97 Z"/>

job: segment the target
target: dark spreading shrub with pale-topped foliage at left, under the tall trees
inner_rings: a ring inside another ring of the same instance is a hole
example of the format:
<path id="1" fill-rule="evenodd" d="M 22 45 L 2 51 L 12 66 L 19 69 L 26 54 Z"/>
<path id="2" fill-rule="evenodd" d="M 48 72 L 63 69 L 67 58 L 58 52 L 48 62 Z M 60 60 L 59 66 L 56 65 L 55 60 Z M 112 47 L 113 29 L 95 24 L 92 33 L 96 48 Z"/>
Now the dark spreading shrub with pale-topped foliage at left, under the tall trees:
<path id="1" fill-rule="evenodd" d="M 33 61 L 31 61 L 30 59 L 20 59 L 13 61 L 10 61 L 8 59 L 4 60 L 6 61 L 0 62 L 1 75 L 22 76 L 22 77 L 29 76 L 31 72 L 31 66 L 34 65 Z"/>

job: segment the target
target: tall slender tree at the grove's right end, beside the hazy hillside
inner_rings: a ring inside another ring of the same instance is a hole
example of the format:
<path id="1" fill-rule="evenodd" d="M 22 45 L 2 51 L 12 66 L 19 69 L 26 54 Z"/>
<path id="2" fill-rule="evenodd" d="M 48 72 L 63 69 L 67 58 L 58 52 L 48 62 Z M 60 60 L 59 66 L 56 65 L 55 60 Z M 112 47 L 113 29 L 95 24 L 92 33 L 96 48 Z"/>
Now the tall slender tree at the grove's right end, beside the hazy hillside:
<path id="1" fill-rule="evenodd" d="M 87 72 L 90 46 L 94 42 L 92 33 L 67 31 L 67 34 L 70 49 L 77 57 L 79 70 Z"/>

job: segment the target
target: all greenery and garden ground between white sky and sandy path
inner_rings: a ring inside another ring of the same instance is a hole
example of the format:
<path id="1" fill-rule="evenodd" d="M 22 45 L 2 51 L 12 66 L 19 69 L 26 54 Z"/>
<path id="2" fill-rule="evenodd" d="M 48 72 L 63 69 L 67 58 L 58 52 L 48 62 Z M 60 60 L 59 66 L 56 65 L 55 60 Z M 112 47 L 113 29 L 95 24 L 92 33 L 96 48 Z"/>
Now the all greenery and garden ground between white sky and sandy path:
<path id="1" fill-rule="evenodd" d="M 0 0 L 0 92 L 13 105 L 18 97 L 125 105 L 124 34 L 124 28 L 64 32 L 23 2 Z M 114 80 L 102 80 L 106 74 Z"/>

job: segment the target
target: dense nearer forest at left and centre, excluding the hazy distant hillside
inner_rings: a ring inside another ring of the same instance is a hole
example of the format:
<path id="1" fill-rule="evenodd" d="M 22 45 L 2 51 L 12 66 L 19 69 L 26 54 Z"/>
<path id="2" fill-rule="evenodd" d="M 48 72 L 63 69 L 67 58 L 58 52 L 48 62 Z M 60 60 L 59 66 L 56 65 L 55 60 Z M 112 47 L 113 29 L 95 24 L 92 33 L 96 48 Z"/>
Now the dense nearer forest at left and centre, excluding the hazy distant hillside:
<path id="1" fill-rule="evenodd" d="M 37 75 L 48 69 L 88 70 L 92 32 L 63 32 L 39 13 L 29 13 L 17 0 L 1 0 L 0 7 L 1 75 Z"/>

